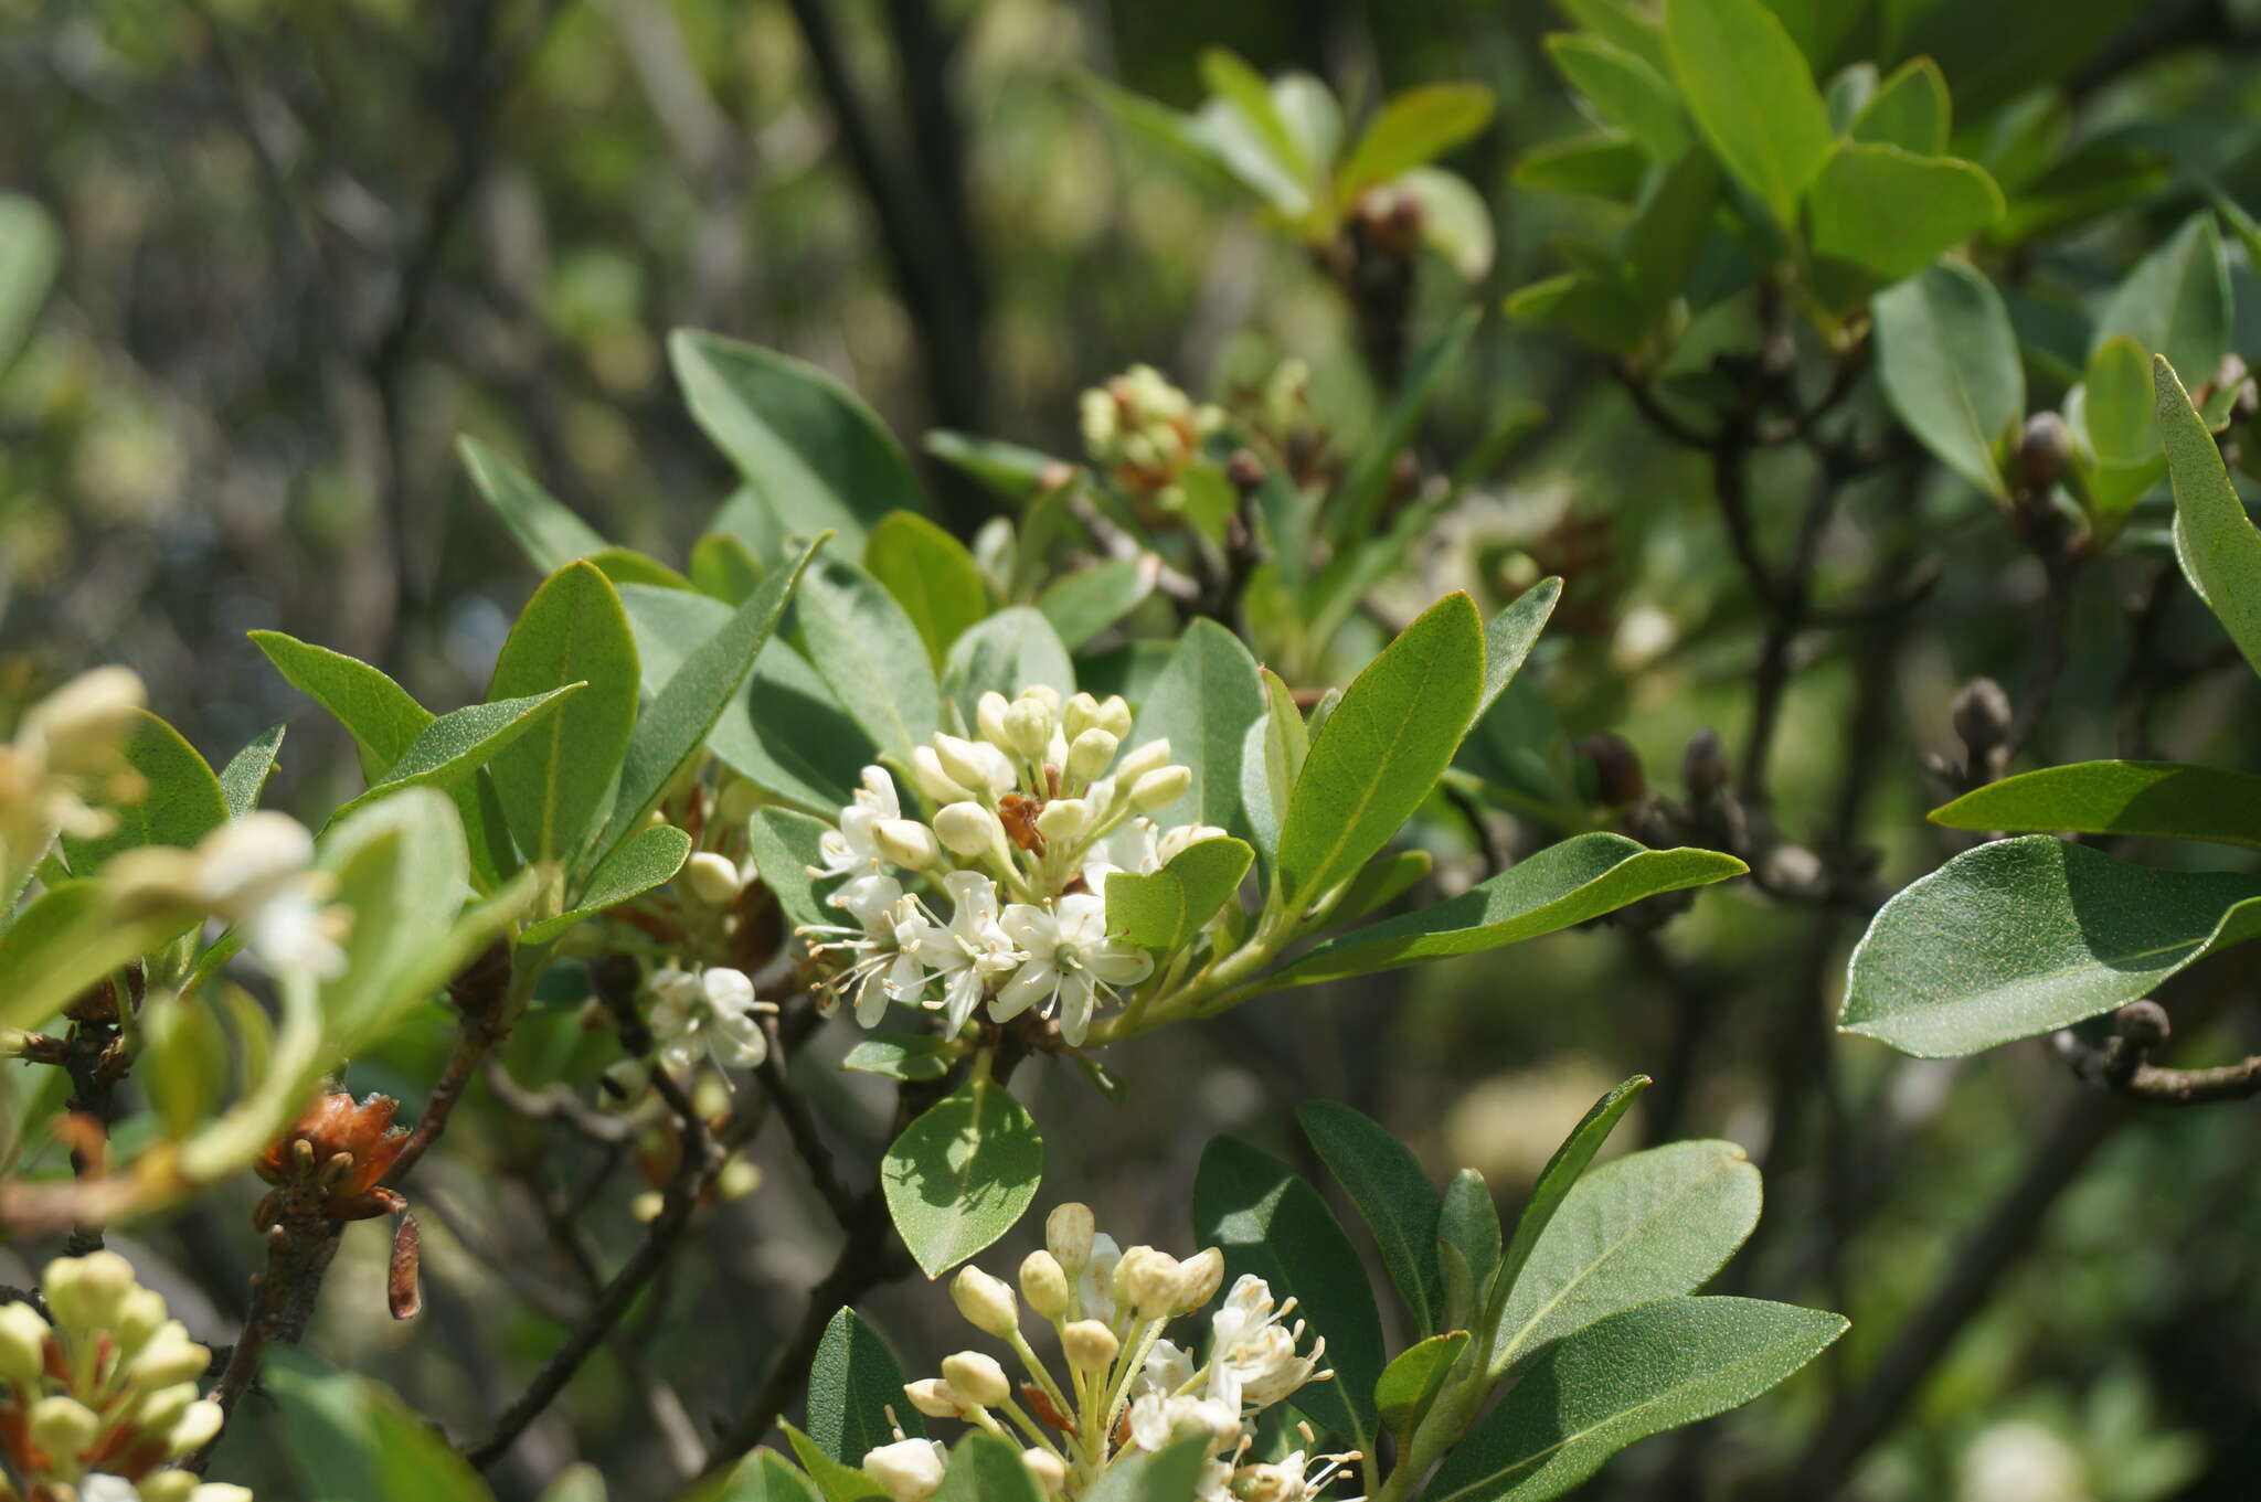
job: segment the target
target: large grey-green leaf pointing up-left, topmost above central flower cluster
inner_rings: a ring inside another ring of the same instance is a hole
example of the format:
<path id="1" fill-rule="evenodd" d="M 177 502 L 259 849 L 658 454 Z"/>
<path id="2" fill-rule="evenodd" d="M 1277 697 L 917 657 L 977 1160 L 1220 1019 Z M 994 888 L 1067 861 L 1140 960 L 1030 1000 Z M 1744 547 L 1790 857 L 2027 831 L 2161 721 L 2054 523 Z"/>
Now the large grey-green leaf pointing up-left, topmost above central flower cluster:
<path id="1" fill-rule="evenodd" d="M 891 510 L 925 510 L 911 461 L 859 395 L 812 364 L 719 334 L 667 339 L 692 420 L 796 533 L 850 542 Z"/>

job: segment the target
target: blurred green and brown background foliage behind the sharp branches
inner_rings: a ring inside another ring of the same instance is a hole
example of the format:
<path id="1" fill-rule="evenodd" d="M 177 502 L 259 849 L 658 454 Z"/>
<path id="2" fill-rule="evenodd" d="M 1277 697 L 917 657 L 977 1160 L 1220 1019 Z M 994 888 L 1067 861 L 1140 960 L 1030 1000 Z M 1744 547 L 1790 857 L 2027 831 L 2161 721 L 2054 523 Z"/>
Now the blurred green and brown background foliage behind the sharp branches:
<path id="1" fill-rule="evenodd" d="M 1856 56 L 1935 56 L 1974 140 L 2039 95 L 2067 102 L 2073 142 L 2141 151 L 2130 190 L 2006 251 L 1996 273 L 2033 291 L 2030 318 L 2046 321 L 2051 289 L 2116 280 L 2189 215 L 2195 185 L 2261 201 L 2252 0 L 1775 9 L 1822 77 Z M 1078 452 L 1076 393 L 1133 361 L 1225 398 L 1298 357 L 1329 447 L 1354 454 L 1377 393 L 1325 271 L 1110 124 L 1078 79 L 1189 108 L 1201 47 L 1228 45 L 1264 72 L 1325 77 L 1352 117 L 1420 81 L 1490 86 L 1492 126 L 1449 165 L 1492 210 L 1497 257 L 1474 296 L 1497 309 L 1560 269 L 1562 237 L 1614 226 L 1608 206 L 1513 181 L 1531 147 L 1587 129 L 1540 43 L 1562 25 L 1537 0 L 0 0 L 14 115 L 0 183 L 45 206 L 63 246 L 52 296 L 0 352 L 0 718 L 120 660 L 213 754 L 289 718 L 280 800 L 328 806 L 341 745 L 244 632 L 369 657 L 425 702 L 475 696 L 534 578 L 468 504 L 459 434 L 516 456 L 608 538 L 681 558 L 730 479 L 667 373 L 674 325 L 812 359 L 907 440 L 950 427 L 1054 454 Z M 2232 267 L 2232 346 L 2252 357 L 2261 285 L 2243 257 Z M 1467 298 L 1424 264 L 1415 339 Z M 2033 379 L 2062 393 L 2069 377 Z M 1703 459 L 1641 425 L 1605 364 L 1497 312 L 1422 452 L 1449 465 L 1524 400 L 1551 413 L 1542 436 L 1438 526 L 1397 592 L 1420 603 L 1567 574 L 1531 709 L 1551 707 L 1569 736 L 1623 736 L 1675 793 L 1696 730 L 1734 745 L 1761 626 Z M 995 504 L 929 479 L 961 535 Z M 1759 472 L 1761 529 L 1788 529 L 1786 490 Z M 2039 763 L 2112 754 L 2128 596 L 2162 590 L 2166 569 L 2155 522 L 2073 599 Z M 1852 506 L 1822 540 L 1820 578 L 1917 551 L 1942 558 L 1940 578 L 1881 655 L 1863 630 L 1802 648 L 1773 791 L 1784 829 L 1822 831 L 1845 761 L 1874 759 L 1852 827 L 1886 888 L 1951 849 L 1922 824 L 1942 793 L 1924 757 L 1954 754 L 1963 680 L 2019 682 L 2042 594 L 2001 515 L 1951 483 L 1915 508 Z M 2168 660 L 2195 664 L 2162 698 L 2162 750 L 2250 766 L 2256 707 L 2214 623 L 2186 596 L 2146 619 Z M 1879 662 L 1881 718 L 1847 725 Z M 2107 1109 L 2042 1046 L 1942 1064 L 1809 1043 L 1856 928 L 1736 888 L 1662 933 L 1594 928 L 1513 967 L 1474 958 L 1173 1030 L 1110 1059 L 1130 1084 L 1117 1111 L 1078 1080 L 1033 1082 L 1040 1120 L 1088 1125 L 1049 1134 L 1047 1193 L 1183 1242 L 1201 1143 L 1232 1127 L 1293 1150 L 1287 1107 L 1329 1095 L 1397 1127 L 1438 1172 L 1481 1168 L 1513 1204 L 1608 1082 L 1669 1075 L 1648 1136 L 1727 1136 L 1768 1172 L 1768 1217 L 1730 1283 L 1845 1310 L 1854 1333 L 1775 1400 L 1628 1455 L 1592 1495 L 1775 1495 L 1759 1477 L 1802 1495 L 1807 1427 L 1926 1308 L 1965 1233 L 2028 1172 L 2030 1143 L 2064 1111 Z M 2250 958 L 2227 964 L 2250 985 Z M 434 1016 L 353 1084 L 416 1095 L 445 1043 Z M 531 1019 L 511 1053 L 529 1082 L 604 1057 L 572 1007 Z M 843 1129 L 866 1120 L 857 1082 L 816 1068 L 809 1084 Z M 432 1315 L 384 1319 L 382 1235 L 357 1229 L 317 1330 L 423 1412 L 464 1414 L 466 1432 L 556 1342 L 543 1310 L 579 1294 L 586 1269 L 547 1249 L 545 1220 L 577 1217 L 595 1265 L 633 1240 L 631 1199 L 665 1177 L 642 1163 L 642 1179 L 577 1204 L 540 1123 L 479 1120 L 425 1170 Z M 1981 1290 L 1992 1299 L 1870 1452 L 1859 1495 L 2250 1497 L 2256 1170 L 2250 1107 L 2148 1116 L 2103 1141 L 2030 1226 L 2030 1256 Z M 710 1217 L 703 1256 L 497 1475 L 504 1495 L 577 1455 L 649 1477 L 624 1495 L 660 1495 L 683 1436 L 742 1407 L 832 1231 L 796 1190 Z M 192 1328 L 199 1308 L 210 1326 L 242 1312 L 210 1303 L 240 1299 L 253 1263 L 240 1217 L 192 1211 L 136 1251 Z M 916 1353 L 952 1339 L 920 1324 L 932 1296 L 891 1290 L 870 1308 Z M 678 1391 L 651 1373 L 687 1376 Z"/>

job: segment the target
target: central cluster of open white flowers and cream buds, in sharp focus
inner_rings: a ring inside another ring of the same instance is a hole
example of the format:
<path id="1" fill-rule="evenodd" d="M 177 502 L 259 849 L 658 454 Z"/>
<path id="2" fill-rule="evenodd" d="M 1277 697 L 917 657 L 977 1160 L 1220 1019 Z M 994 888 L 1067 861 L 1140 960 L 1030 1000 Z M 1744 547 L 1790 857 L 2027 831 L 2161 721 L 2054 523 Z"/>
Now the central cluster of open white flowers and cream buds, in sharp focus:
<path id="1" fill-rule="evenodd" d="M 1121 752 L 1121 698 L 1063 702 L 1038 684 L 1015 700 L 984 693 L 974 721 L 979 739 L 936 734 L 911 752 L 918 791 L 938 804 L 932 824 L 907 818 L 886 768 L 868 766 L 825 831 L 809 874 L 848 876 L 828 901 L 855 924 L 803 931 L 839 964 L 821 1001 L 850 996 L 864 1028 L 889 1003 L 932 1007 L 956 1032 L 988 998 L 990 1021 L 1036 1007 L 1081 1046 L 1099 1003 L 1153 973 L 1146 951 L 1108 937 L 1108 874 L 1153 872 L 1223 831 L 1144 818 L 1194 775 L 1169 761 L 1169 741 Z M 929 890 L 907 892 L 904 876 Z"/>

